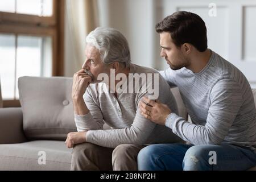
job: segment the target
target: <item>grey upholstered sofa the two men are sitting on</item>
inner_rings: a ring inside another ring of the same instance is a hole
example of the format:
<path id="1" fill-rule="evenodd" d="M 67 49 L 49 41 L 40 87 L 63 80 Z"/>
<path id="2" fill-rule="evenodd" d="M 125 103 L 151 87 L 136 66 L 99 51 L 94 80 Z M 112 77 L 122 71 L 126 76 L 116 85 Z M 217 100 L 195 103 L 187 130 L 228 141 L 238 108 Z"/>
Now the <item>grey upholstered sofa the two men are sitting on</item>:
<path id="1" fill-rule="evenodd" d="M 19 78 L 21 107 L 0 109 L 0 170 L 70 169 L 72 149 L 64 141 L 76 131 L 72 83 L 71 77 Z M 171 92 L 179 115 L 189 120 L 179 90 Z"/>

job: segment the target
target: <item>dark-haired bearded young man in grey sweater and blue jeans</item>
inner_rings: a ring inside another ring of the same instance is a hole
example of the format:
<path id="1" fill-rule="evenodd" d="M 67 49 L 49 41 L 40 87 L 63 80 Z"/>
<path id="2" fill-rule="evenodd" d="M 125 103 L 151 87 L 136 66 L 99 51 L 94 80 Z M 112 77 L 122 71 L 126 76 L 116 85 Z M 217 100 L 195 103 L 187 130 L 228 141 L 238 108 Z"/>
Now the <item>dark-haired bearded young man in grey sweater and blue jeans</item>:
<path id="1" fill-rule="evenodd" d="M 160 74 L 177 86 L 192 122 L 160 101 L 139 103 L 147 119 L 172 129 L 191 144 L 155 144 L 138 155 L 140 170 L 246 170 L 256 166 L 256 110 L 239 69 L 207 49 L 200 16 L 178 11 L 156 24 L 160 56 L 170 68 Z"/>

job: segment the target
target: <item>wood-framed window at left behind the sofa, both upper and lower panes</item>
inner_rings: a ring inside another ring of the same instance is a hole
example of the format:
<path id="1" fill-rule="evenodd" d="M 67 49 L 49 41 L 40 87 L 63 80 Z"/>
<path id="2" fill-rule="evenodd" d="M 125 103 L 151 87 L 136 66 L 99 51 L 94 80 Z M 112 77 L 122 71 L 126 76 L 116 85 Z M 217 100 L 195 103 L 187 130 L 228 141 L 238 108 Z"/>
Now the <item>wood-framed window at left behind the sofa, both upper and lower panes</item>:
<path id="1" fill-rule="evenodd" d="M 0 1 L 4 107 L 20 106 L 18 78 L 63 76 L 64 0 Z"/>

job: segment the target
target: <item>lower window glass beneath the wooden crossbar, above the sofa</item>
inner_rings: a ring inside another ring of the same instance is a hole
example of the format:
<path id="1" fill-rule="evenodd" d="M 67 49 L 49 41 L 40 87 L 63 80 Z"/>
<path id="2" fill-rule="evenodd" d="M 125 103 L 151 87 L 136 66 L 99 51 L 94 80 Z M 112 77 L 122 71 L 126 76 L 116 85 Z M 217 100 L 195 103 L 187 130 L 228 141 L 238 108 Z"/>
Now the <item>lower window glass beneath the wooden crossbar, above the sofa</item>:
<path id="1" fill-rule="evenodd" d="M 21 76 L 52 76 L 52 39 L 49 36 L 0 34 L 2 96 L 18 100 Z M 29 53 L 29 56 L 28 56 Z"/>

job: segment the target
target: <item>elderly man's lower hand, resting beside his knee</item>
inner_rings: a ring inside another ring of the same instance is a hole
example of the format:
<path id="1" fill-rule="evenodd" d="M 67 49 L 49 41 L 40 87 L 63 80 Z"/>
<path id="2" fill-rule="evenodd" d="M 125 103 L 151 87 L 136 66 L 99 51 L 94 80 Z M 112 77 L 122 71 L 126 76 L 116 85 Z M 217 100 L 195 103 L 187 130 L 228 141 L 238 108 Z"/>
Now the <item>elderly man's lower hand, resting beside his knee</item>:
<path id="1" fill-rule="evenodd" d="M 69 133 L 65 141 L 68 148 L 73 148 L 76 144 L 86 142 L 86 131 Z"/>

